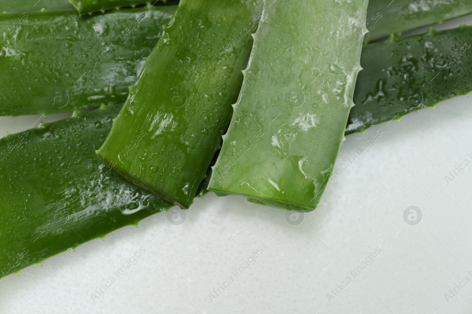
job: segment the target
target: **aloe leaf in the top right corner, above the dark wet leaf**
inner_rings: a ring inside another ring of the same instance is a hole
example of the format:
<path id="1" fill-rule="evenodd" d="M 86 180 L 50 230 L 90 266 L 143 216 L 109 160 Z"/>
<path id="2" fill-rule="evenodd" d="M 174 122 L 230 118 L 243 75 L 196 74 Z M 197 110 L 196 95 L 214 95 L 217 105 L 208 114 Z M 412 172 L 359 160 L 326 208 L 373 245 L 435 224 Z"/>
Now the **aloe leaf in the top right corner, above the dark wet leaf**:
<path id="1" fill-rule="evenodd" d="M 364 42 L 472 13 L 470 0 L 370 0 Z"/>

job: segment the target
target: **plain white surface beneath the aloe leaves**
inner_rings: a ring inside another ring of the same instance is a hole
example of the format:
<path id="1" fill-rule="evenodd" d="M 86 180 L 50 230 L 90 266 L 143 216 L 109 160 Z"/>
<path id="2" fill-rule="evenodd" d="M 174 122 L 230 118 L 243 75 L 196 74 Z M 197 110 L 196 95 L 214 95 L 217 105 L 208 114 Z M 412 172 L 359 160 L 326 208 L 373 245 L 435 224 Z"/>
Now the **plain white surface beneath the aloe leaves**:
<path id="1" fill-rule="evenodd" d="M 0 131 L 36 119 L 2 117 Z M 472 282 L 449 302 L 445 294 L 472 280 L 472 165 L 449 185 L 445 176 L 472 161 L 471 125 L 472 99 L 456 97 L 350 135 L 337 165 L 382 132 L 302 224 L 288 224 L 284 210 L 209 193 L 183 225 L 159 213 L 1 279 L 0 313 L 470 313 Z M 409 206 L 421 209 L 420 224 L 405 223 Z M 93 300 L 140 248 L 138 263 Z M 231 274 L 258 248 L 255 265 Z M 376 248 L 374 263 L 354 278 L 349 272 Z M 211 302 L 229 276 L 235 282 Z M 329 302 L 347 276 L 353 282 Z"/>

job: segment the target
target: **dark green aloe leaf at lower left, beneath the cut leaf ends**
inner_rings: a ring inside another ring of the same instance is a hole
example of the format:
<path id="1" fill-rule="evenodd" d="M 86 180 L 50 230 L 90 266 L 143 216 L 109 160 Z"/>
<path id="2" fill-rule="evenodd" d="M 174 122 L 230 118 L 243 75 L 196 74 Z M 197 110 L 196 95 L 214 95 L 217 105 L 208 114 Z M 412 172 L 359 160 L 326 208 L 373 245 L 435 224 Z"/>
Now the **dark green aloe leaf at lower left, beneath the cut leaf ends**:
<path id="1" fill-rule="evenodd" d="M 173 206 L 95 154 L 119 109 L 0 139 L 0 278 Z"/>

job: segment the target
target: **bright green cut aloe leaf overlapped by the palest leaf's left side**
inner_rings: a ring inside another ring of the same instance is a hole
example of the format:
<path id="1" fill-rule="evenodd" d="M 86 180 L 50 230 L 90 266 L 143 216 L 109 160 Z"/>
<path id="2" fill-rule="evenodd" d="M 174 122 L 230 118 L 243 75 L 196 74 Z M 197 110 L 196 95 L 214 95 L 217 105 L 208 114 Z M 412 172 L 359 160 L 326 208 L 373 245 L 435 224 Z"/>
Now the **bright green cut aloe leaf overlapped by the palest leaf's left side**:
<path id="1" fill-rule="evenodd" d="M 228 127 L 262 1 L 182 0 L 98 154 L 188 208 Z"/>

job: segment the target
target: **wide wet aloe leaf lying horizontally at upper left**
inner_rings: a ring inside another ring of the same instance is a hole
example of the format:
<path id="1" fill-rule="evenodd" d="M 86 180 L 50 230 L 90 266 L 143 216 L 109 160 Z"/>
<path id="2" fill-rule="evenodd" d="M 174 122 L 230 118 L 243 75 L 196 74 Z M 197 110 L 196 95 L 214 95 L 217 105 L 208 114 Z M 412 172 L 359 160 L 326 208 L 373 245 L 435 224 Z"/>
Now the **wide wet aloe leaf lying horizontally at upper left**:
<path id="1" fill-rule="evenodd" d="M 0 115 L 125 101 L 176 8 L 0 14 Z"/>

